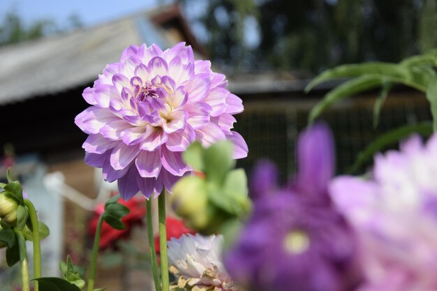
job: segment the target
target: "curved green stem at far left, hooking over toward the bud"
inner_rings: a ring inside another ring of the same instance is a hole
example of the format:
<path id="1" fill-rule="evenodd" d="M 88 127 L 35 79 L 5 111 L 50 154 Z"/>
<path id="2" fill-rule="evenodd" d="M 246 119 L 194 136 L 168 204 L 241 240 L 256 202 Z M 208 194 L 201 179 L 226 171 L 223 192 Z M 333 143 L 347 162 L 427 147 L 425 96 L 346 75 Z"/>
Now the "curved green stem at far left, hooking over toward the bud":
<path id="1" fill-rule="evenodd" d="M 36 279 L 41 278 L 40 228 L 38 225 L 38 216 L 36 216 L 34 204 L 27 199 L 24 199 L 24 204 L 29 210 L 29 217 L 32 224 L 32 242 L 34 244 L 34 279 Z M 38 291 L 38 281 L 34 281 L 34 291 Z"/>

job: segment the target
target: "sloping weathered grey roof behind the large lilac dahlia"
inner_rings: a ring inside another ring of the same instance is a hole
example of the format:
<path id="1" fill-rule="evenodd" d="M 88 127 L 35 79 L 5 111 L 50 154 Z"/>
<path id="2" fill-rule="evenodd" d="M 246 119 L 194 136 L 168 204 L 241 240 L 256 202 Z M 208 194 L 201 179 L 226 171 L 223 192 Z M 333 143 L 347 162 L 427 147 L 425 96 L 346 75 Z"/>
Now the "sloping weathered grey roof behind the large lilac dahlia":
<path id="1" fill-rule="evenodd" d="M 205 54 L 178 6 L 138 13 L 97 27 L 0 47 L 0 105 L 57 94 L 96 80 L 128 45 L 167 48 L 187 41 Z"/>

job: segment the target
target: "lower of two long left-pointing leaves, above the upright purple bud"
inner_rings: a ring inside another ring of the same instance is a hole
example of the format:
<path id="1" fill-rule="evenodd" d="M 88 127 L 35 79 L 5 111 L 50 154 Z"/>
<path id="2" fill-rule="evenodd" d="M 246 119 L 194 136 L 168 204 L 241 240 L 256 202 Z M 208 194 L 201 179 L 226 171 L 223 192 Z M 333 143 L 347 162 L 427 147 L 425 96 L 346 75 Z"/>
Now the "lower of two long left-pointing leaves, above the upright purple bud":
<path id="1" fill-rule="evenodd" d="M 380 77 L 373 77 L 369 75 L 364 75 L 362 77 L 357 77 L 353 80 L 344 82 L 343 84 L 335 87 L 325 97 L 317 103 L 309 112 L 309 123 L 312 124 L 320 114 L 334 104 L 336 101 L 346 98 L 348 96 L 366 91 L 369 89 L 374 89 L 383 84 L 383 80 Z"/>

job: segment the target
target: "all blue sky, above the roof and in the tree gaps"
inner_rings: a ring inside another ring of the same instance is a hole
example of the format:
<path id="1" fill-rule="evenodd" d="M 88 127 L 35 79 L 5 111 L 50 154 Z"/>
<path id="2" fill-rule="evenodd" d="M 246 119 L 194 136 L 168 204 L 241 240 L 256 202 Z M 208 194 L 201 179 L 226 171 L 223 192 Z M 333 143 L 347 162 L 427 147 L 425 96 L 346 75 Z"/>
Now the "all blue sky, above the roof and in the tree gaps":
<path id="1" fill-rule="evenodd" d="M 173 0 L 0 0 L 0 24 L 8 12 L 15 11 L 24 24 L 37 20 L 53 20 L 59 29 L 71 27 L 68 18 L 77 15 L 84 27 L 115 20 L 125 15 L 156 8 L 162 3 Z M 186 9 L 184 14 L 188 22 L 205 11 L 206 1 L 198 1 L 194 7 Z M 245 40 L 249 47 L 258 45 L 260 39 L 258 27 L 249 19 L 245 25 Z M 205 27 L 191 22 L 193 32 L 201 42 L 207 41 Z"/>

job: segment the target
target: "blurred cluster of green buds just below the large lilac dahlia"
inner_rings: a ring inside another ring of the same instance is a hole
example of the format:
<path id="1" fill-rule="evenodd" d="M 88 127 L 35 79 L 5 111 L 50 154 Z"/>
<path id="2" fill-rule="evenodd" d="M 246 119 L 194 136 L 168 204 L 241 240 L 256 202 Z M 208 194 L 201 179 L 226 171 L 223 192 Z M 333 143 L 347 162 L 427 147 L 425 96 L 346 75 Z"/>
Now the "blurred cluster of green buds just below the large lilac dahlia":
<path id="1" fill-rule="evenodd" d="M 183 155 L 184 161 L 200 177 L 177 181 L 170 196 L 176 213 L 188 227 L 202 234 L 217 232 L 227 222 L 243 218 L 251 209 L 244 170 L 233 170 L 232 144 L 221 141 L 207 149 L 194 142 Z"/>

